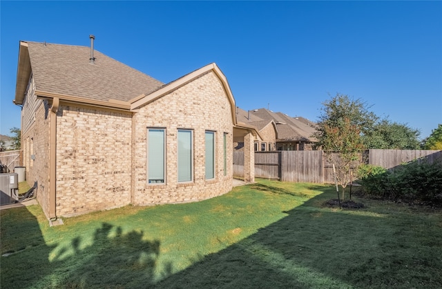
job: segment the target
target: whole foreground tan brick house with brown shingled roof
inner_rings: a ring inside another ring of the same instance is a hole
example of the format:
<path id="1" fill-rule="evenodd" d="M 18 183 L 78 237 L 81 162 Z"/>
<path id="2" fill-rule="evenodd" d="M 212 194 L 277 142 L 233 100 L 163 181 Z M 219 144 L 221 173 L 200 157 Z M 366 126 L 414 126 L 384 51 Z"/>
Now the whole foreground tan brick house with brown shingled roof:
<path id="1" fill-rule="evenodd" d="M 26 180 L 49 219 L 208 199 L 253 181 L 254 128 L 211 63 L 164 84 L 85 46 L 20 41 L 15 103 Z"/>

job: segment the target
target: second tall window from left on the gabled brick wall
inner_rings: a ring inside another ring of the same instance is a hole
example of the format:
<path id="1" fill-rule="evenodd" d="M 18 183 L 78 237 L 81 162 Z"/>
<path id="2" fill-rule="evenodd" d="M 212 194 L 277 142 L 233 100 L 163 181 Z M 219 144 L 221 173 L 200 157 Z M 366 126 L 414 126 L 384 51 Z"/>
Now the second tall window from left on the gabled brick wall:
<path id="1" fill-rule="evenodd" d="M 178 130 L 178 181 L 193 179 L 192 130 Z"/>

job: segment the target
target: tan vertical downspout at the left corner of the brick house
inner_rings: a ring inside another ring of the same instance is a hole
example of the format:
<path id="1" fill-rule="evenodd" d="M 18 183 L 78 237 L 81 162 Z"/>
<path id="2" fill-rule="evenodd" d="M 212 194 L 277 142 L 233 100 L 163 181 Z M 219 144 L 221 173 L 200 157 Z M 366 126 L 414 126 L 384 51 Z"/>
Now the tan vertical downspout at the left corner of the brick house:
<path id="1" fill-rule="evenodd" d="M 49 219 L 55 221 L 56 213 L 56 166 L 57 166 L 57 111 L 60 99 L 54 97 L 52 99 L 52 107 L 50 108 L 50 142 L 49 142 Z"/>

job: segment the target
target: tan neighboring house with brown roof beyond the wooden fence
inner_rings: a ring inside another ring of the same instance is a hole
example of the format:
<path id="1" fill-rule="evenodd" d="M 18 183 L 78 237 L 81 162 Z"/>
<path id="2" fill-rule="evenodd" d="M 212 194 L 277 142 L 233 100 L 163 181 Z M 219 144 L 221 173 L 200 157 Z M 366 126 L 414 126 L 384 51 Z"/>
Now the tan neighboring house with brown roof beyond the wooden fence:
<path id="1" fill-rule="evenodd" d="M 308 119 L 289 117 L 282 112 L 272 112 L 265 108 L 248 112 L 237 108 L 237 111 L 238 119 L 247 119 L 247 123 L 265 136 L 256 141 L 255 150 L 313 150 L 316 139 L 311 135 L 316 129 L 315 123 Z M 274 135 L 270 133 L 270 123 L 275 127 Z"/>

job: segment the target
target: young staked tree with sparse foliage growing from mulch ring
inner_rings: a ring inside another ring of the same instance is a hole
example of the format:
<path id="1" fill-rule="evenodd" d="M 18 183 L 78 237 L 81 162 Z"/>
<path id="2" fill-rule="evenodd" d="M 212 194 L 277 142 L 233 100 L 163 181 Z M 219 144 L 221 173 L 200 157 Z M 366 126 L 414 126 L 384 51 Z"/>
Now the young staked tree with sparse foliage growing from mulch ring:
<path id="1" fill-rule="evenodd" d="M 336 97 L 325 101 L 321 110 L 313 136 L 318 140 L 316 147 L 322 148 L 327 159 L 334 164 L 345 199 L 351 170 L 362 161 L 361 152 L 365 150 L 363 135 L 369 133 L 378 118 L 361 99 L 350 99 L 345 94 L 336 94 Z"/>

